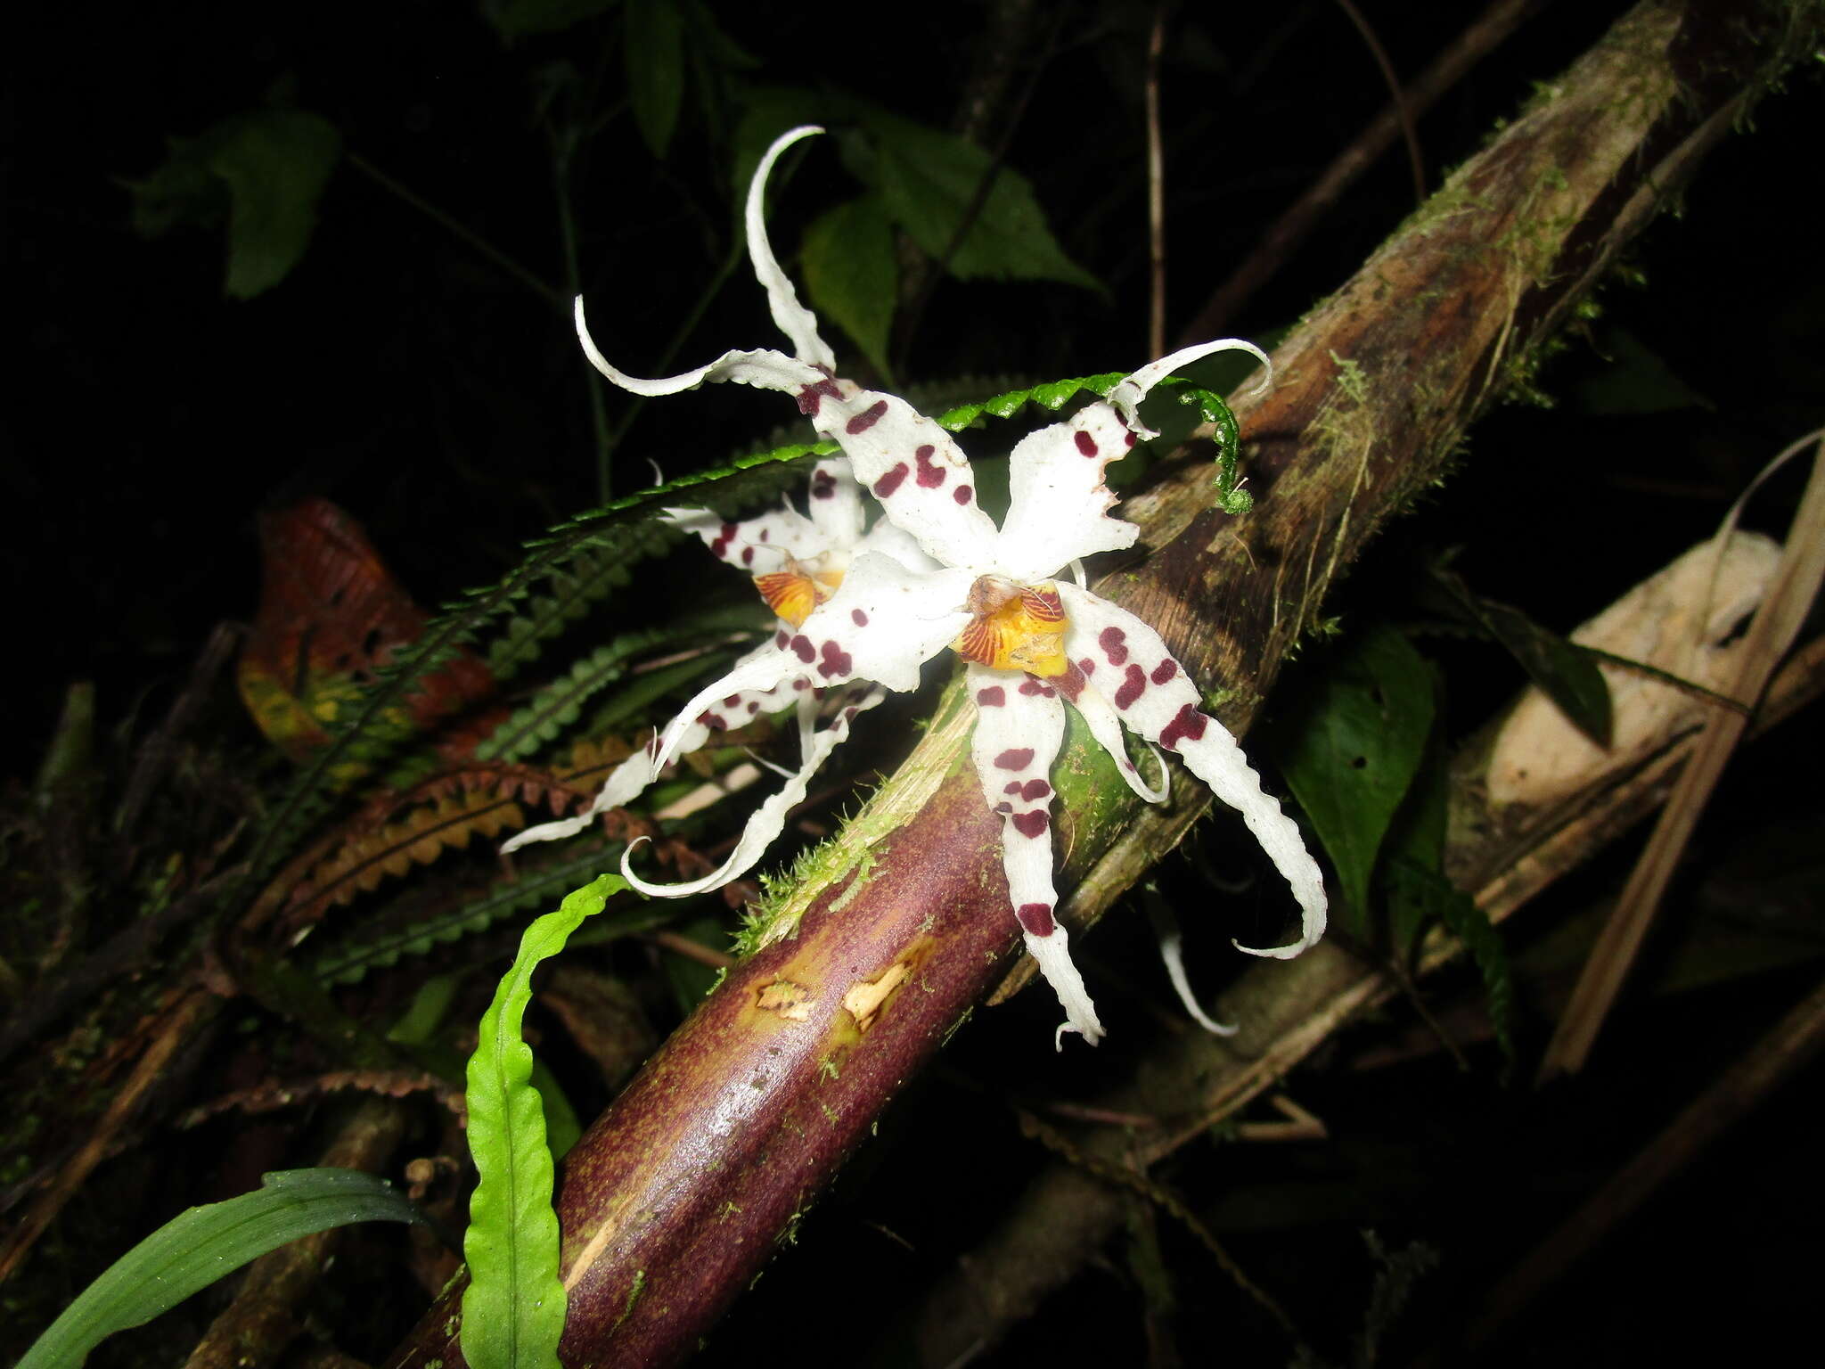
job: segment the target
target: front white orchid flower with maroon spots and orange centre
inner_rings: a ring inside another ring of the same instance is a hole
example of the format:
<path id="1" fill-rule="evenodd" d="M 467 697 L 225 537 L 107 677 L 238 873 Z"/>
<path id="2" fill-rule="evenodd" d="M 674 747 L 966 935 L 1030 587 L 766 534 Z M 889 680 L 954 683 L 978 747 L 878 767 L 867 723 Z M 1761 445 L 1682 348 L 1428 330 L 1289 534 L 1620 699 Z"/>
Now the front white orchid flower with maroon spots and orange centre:
<path id="1" fill-rule="evenodd" d="M 1175 367 L 1210 352 L 1246 350 L 1263 363 L 1267 356 L 1234 338 L 1190 347 L 1133 372 L 1108 400 L 1029 434 L 1009 455 L 1011 504 L 996 528 L 978 507 L 969 458 L 949 433 L 892 394 L 834 376 L 816 319 L 799 305 L 766 245 L 761 221 L 766 173 L 785 148 L 818 131 L 796 128 L 768 148 L 746 206 L 756 272 L 776 323 L 794 341 L 794 356 L 732 350 L 683 376 L 637 380 L 597 350 L 580 298 L 577 334 L 595 367 L 635 394 L 677 394 L 704 381 L 794 394 L 812 425 L 841 445 L 856 480 L 872 491 L 892 526 L 936 568 L 912 570 L 878 551 L 856 555 L 841 586 L 798 632 L 781 632 L 684 705 L 659 737 L 655 765 L 664 765 L 686 743 L 697 714 L 719 697 L 772 690 L 807 672 L 825 686 L 865 679 L 911 690 L 920 666 L 949 646 L 967 663 L 969 695 L 978 710 L 971 756 L 984 798 L 1002 814 L 1002 867 L 1013 914 L 1027 951 L 1064 1004 L 1060 1042 L 1064 1031 L 1077 1031 L 1090 1042 L 1102 1037 L 1102 1022 L 1055 918 L 1048 776 L 1064 739 L 1066 705 L 1079 710 L 1142 799 L 1163 801 L 1164 778 L 1159 789 L 1142 779 L 1128 759 L 1122 726 L 1177 752 L 1192 774 L 1241 812 L 1292 885 L 1303 925 L 1298 940 L 1287 946 L 1239 949 L 1276 958 L 1298 955 L 1325 929 L 1323 876 L 1298 825 L 1263 792 L 1236 739 L 1201 710 L 1197 688 L 1159 633 L 1088 590 L 1053 579 L 1080 557 L 1133 546 L 1139 537 L 1133 524 L 1110 517 L 1115 495 L 1102 476 L 1137 434 L 1155 436 L 1135 413 L 1148 391 Z M 847 714 L 843 726 L 847 736 Z M 779 834 L 787 807 L 803 796 L 810 774 L 838 741 L 838 728 L 818 734 L 805 765 L 750 818 L 741 843 L 719 871 L 688 883 L 653 885 L 631 871 L 624 854 L 628 882 L 648 894 L 683 896 L 741 874 Z"/>

